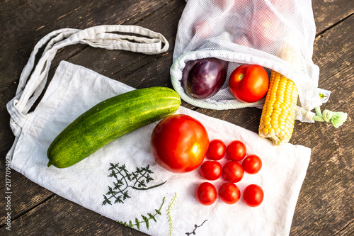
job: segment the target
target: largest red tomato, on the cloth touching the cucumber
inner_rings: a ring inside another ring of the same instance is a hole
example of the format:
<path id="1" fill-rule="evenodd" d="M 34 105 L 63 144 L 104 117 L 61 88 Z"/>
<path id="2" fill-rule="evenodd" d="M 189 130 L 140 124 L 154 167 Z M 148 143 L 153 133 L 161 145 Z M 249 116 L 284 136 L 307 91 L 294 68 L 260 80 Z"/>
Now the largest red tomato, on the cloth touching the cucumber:
<path id="1" fill-rule="evenodd" d="M 150 147 L 161 167 L 174 173 L 191 172 L 202 164 L 209 137 L 205 127 L 195 118 L 173 115 L 156 125 Z"/>

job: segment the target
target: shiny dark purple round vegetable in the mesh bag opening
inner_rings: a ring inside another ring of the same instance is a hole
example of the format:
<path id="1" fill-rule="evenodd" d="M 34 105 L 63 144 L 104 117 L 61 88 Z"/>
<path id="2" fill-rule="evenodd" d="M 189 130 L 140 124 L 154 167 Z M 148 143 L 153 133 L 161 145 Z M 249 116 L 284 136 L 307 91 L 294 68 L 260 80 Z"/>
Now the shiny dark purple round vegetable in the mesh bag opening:
<path id="1" fill-rule="evenodd" d="M 193 99 L 214 96 L 226 81 L 227 64 L 227 61 L 215 57 L 187 62 L 182 74 L 185 94 Z"/>

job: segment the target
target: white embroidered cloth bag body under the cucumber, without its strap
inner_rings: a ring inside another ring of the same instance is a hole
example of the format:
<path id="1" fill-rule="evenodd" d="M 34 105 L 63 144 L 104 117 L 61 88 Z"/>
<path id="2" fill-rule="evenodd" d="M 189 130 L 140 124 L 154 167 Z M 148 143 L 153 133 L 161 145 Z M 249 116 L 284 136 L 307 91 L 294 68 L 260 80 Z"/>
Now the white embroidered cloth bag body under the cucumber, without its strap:
<path id="1" fill-rule="evenodd" d="M 173 174 L 152 158 L 149 141 L 157 122 L 120 137 L 73 167 L 47 167 L 47 148 L 74 118 L 96 103 L 132 89 L 61 62 L 35 111 L 17 119 L 21 115 L 9 109 L 11 118 L 21 120 L 16 142 L 8 152 L 11 167 L 59 196 L 149 235 L 289 234 L 310 149 L 290 143 L 275 147 L 256 133 L 188 108 L 181 107 L 178 113 L 200 120 L 210 140 L 219 138 L 226 144 L 241 140 L 247 154 L 261 157 L 261 172 L 245 174 L 237 184 L 241 193 L 249 184 L 261 186 L 265 193 L 261 206 L 250 208 L 242 198 L 234 205 L 219 198 L 212 206 L 200 205 L 195 189 L 205 180 L 199 169 Z M 221 162 L 226 161 L 224 157 Z M 211 182 L 218 189 L 224 181 Z"/>

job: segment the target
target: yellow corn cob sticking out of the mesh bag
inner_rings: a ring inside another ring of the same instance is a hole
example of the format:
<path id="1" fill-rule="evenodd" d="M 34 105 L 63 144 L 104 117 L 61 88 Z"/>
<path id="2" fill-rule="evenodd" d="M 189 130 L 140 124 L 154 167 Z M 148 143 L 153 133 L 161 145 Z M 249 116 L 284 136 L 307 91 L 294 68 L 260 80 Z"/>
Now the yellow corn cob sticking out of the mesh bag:
<path id="1" fill-rule="evenodd" d="M 272 70 L 261 115 L 259 135 L 273 144 L 289 142 L 295 123 L 297 87 L 292 80 Z"/>

